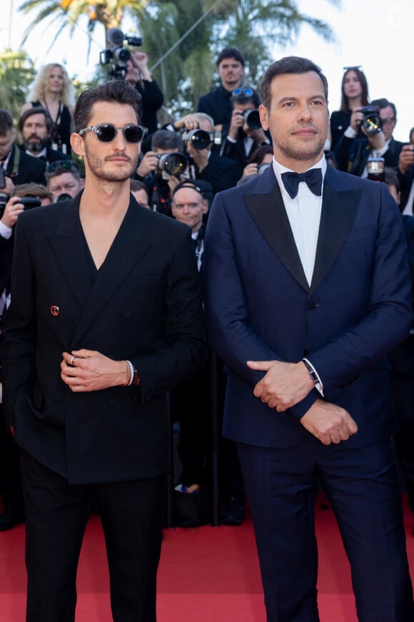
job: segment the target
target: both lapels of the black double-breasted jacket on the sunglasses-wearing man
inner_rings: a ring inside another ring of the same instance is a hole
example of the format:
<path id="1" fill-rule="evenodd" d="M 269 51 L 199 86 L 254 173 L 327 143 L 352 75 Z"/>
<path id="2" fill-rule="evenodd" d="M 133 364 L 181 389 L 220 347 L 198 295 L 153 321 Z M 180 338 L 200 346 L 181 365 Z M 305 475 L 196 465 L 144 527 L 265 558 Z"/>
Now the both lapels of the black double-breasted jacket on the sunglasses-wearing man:
<path id="1" fill-rule="evenodd" d="M 65 204 L 67 209 L 62 214 L 56 234 L 48 236 L 49 244 L 66 280 L 69 293 L 73 296 L 74 302 L 83 309 L 74 341 L 81 341 L 89 327 L 99 321 L 99 316 L 104 313 L 111 298 L 116 296 L 118 288 L 128 278 L 138 259 L 141 259 L 148 248 L 148 242 L 144 240 L 140 208 L 135 201 L 131 201 L 118 234 L 91 288 L 84 249 L 84 235 L 79 220 L 79 201 L 80 199 L 70 201 L 72 204 L 70 209 Z"/>

